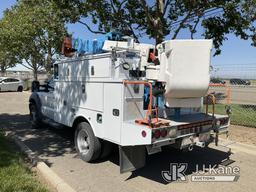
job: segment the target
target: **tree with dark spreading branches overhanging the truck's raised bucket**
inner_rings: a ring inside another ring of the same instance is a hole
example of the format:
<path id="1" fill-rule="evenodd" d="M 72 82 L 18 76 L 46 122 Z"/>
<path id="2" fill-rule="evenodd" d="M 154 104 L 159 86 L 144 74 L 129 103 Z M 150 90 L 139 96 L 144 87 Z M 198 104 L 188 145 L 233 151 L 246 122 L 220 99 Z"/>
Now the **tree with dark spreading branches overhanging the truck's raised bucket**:
<path id="1" fill-rule="evenodd" d="M 191 38 L 198 30 L 202 36 L 213 39 L 216 54 L 234 33 L 241 39 L 251 39 L 256 45 L 255 0 L 54 0 L 68 22 L 79 22 L 90 32 L 104 34 L 118 29 L 136 39 L 145 34 L 162 42 L 167 35 L 176 39 L 182 30 L 188 30 Z M 95 27 L 84 18 L 90 18 Z"/>

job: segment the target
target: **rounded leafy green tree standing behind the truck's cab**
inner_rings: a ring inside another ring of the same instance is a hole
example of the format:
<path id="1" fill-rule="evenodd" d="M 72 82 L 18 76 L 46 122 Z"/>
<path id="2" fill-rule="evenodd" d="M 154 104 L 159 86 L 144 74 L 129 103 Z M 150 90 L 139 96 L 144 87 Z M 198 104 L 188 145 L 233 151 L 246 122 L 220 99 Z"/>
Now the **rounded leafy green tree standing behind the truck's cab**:
<path id="1" fill-rule="evenodd" d="M 54 56 L 61 51 L 66 29 L 56 12 L 51 1 L 21 0 L 2 19 L 0 41 L 21 65 L 33 71 L 34 79 L 43 68 L 50 73 Z"/>

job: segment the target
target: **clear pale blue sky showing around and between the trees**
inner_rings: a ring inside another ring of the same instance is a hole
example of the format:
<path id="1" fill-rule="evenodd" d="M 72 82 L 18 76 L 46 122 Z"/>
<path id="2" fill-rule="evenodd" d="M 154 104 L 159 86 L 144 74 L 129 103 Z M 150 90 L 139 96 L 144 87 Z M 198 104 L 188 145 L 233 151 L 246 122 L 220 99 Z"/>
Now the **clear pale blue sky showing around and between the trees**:
<path id="1" fill-rule="evenodd" d="M 0 4 L 0 17 L 3 15 L 3 11 L 6 8 L 11 7 L 16 3 L 16 0 L 1 0 Z M 69 32 L 73 32 L 74 36 L 84 39 L 94 39 L 98 36 L 90 33 L 81 24 L 69 24 L 67 25 Z M 202 30 L 199 28 L 199 30 Z M 187 31 L 182 31 L 178 36 L 179 39 L 189 38 Z M 196 38 L 200 38 L 198 35 Z M 233 34 L 227 36 L 228 40 L 223 43 L 222 53 L 219 56 L 212 58 L 213 66 L 217 66 L 214 75 L 225 76 L 232 74 L 241 74 L 242 76 L 250 76 L 256 78 L 256 47 L 252 47 L 250 41 L 244 41 L 239 39 Z M 167 36 L 168 39 L 168 36 Z M 144 43 L 153 43 L 153 40 L 144 37 L 141 39 Z M 17 66 L 14 69 L 24 69 L 21 66 Z"/>

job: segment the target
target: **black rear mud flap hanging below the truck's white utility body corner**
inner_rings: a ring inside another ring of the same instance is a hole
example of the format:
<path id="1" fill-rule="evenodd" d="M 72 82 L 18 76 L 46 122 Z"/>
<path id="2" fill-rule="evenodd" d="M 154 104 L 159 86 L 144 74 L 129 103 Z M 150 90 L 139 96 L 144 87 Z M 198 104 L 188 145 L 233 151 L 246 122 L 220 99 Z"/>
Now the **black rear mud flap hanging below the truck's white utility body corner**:
<path id="1" fill-rule="evenodd" d="M 134 171 L 146 163 L 145 146 L 119 146 L 120 173 Z"/>

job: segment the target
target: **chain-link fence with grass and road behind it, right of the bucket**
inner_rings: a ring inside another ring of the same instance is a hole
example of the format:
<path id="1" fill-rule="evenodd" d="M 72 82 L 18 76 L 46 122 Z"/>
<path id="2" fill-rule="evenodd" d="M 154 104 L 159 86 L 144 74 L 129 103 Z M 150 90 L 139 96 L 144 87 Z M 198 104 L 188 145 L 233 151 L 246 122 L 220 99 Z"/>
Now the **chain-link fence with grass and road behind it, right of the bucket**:
<path id="1" fill-rule="evenodd" d="M 234 65 L 218 69 L 208 91 L 216 98 L 215 113 L 226 114 L 230 106 L 231 124 L 256 128 L 256 64 L 239 67 L 240 72 Z"/>

